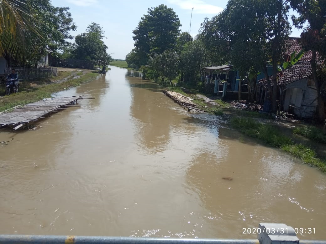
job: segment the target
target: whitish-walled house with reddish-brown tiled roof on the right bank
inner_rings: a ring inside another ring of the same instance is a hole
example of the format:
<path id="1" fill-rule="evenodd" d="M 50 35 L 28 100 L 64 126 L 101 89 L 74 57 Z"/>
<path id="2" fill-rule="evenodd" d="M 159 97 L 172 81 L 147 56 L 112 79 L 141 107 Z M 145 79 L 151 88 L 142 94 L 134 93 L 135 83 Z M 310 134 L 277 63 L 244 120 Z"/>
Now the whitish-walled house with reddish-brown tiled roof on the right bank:
<path id="1" fill-rule="evenodd" d="M 287 53 L 300 52 L 300 38 L 290 37 Z M 311 69 L 312 53 L 306 52 L 295 65 L 277 74 L 277 86 L 281 100 L 281 110 L 295 114 L 300 118 L 312 118 L 317 107 L 317 89 L 312 77 Z M 317 66 L 323 62 L 318 59 Z M 273 76 L 269 77 L 273 80 Z M 267 80 L 260 79 L 259 84 L 265 88 L 264 100 L 268 97 Z M 264 103 L 261 101 L 261 103 Z"/>

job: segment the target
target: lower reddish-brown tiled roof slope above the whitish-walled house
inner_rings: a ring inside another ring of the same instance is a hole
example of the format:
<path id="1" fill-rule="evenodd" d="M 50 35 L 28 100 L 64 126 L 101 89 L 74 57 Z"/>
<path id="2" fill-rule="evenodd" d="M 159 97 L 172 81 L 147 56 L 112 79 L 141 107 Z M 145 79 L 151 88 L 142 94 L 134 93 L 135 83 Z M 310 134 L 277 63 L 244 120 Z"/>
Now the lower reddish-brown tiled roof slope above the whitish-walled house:
<path id="1" fill-rule="evenodd" d="M 317 61 L 317 66 L 321 65 L 322 61 Z M 311 63 L 310 61 L 300 61 L 295 65 L 291 66 L 290 68 L 284 70 L 282 76 L 281 74 L 281 72 L 277 74 L 278 86 L 284 86 L 294 81 L 301 80 L 303 78 L 308 77 L 309 75 L 312 75 Z M 273 75 L 269 76 L 269 79 L 272 83 Z M 267 85 L 266 78 L 260 79 L 258 83 Z"/>

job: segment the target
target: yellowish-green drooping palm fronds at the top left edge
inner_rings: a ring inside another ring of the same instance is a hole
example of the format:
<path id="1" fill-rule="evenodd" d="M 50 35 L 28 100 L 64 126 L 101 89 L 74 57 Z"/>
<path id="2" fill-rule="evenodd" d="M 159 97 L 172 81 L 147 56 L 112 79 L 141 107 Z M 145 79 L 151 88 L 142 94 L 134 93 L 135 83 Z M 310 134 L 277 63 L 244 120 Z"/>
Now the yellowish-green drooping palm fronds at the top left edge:
<path id="1" fill-rule="evenodd" d="M 35 37 L 41 38 L 31 20 L 32 9 L 20 0 L 0 0 L 0 56 L 23 60 L 35 51 Z M 34 36 L 34 38 L 32 38 Z"/>

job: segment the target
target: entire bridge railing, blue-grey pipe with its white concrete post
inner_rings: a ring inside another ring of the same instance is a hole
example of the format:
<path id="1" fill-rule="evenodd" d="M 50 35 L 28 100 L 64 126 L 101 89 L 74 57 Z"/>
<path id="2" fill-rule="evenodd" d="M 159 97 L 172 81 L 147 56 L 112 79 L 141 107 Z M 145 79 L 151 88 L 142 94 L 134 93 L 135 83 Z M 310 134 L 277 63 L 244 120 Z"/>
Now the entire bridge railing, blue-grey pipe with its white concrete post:
<path id="1" fill-rule="evenodd" d="M 260 233 L 257 236 L 258 239 L 179 239 L 144 237 L 0 235 L 0 244 L 326 244 L 326 240 L 299 240 L 299 238 L 295 235 L 295 230 L 285 224 L 259 224 L 259 227 L 256 229 L 259 230 Z M 274 233 L 272 230 L 274 230 Z M 283 232 L 281 232 L 281 230 L 283 230 Z M 286 232 L 284 230 L 286 230 Z"/>

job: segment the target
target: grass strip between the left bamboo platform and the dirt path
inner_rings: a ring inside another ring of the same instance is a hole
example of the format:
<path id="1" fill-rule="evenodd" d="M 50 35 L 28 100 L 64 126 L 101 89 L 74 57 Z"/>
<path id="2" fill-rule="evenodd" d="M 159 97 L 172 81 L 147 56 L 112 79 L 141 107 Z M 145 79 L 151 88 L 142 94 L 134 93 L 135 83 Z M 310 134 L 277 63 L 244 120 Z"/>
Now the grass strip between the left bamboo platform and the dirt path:
<path id="1" fill-rule="evenodd" d="M 41 85 L 38 87 L 33 87 L 27 85 L 27 82 L 21 82 L 21 90 L 18 93 L 10 94 L 9 96 L 0 97 L 0 112 L 10 109 L 17 105 L 24 105 L 30 102 L 36 102 L 42 100 L 43 98 L 50 98 L 52 93 L 59 92 L 65 88 L 75 87 L 91 81 L 98 76 L 97 73 L 88 72 L 78 78 L 74 78 L 71 72 L 61 74 L 61 77 L 67 78 L 67 81 L 54 83 L 49 85 Z M 69 78 L 71 78 L 69 80 Z"/>

